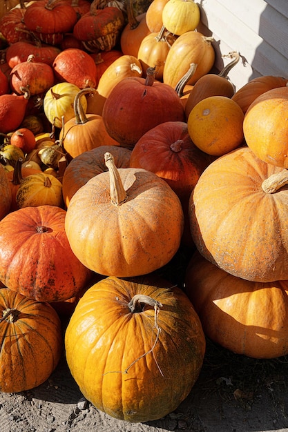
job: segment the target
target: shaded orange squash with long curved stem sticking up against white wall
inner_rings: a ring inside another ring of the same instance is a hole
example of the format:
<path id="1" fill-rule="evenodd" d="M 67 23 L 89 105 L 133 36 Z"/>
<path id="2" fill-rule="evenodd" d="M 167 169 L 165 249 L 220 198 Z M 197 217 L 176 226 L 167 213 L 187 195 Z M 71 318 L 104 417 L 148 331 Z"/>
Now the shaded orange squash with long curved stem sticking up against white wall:
<path id="1" fill-rule="evenodd" d="M 238 52 L 233 51 L 230 52 L 229 55 L 223 57 L 229 57 L 232 60 L 224 66 L 218 75 L 212 73 L 203 75 L 203 77 L 199 78 L 198 81 L 195 82 L 191 92 L 189 92 L 185 104 L 186 119 L 188 119 L 194 106 L 198 104 L 198 102 L 202 101 L 202 99 L 210 96 L 226 96 L 231 98 L 234 95 L 234 87 L 228 79 L 228 74 L 238 63 L 240 55 Z"/>

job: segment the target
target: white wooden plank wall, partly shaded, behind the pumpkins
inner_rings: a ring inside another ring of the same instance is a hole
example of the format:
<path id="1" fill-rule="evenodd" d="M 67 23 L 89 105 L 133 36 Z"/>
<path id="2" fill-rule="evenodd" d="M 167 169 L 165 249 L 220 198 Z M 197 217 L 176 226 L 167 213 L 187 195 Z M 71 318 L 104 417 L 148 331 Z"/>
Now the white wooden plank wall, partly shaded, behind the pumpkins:
<path id="1" fill-rule="evenodd" d="M 198 31 L 212 35 L 215 70 L 236 50 L 239 63 L 229 72 L 236 90 L 260 75 L 288 78 L 288 0 L 195 0 L 201 10 Z"/>

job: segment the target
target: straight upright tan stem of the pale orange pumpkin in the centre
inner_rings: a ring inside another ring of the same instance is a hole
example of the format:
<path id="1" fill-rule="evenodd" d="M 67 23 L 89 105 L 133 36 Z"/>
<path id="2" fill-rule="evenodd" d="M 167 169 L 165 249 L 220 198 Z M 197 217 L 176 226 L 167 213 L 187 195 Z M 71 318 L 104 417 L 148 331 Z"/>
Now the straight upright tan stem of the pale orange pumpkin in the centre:
<path id="1" fill-rule="evenodd" d="M 111 155 L 111 153 L 106 152 L 104 154 L 104 161 L 110 175 L 111 203 L 114 204 L 115 206 L 120 206 L 126 201 L 128 195 L 126 194 L 126 190 L 124 189 L 122 179 L 115 165 L 115 160 L 113 155 Z"/>

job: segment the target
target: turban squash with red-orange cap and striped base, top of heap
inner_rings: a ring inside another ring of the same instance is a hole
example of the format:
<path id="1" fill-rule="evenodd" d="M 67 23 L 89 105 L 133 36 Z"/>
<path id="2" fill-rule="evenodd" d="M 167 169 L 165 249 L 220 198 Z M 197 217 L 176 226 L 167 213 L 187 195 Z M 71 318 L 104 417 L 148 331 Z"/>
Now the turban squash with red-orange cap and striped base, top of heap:
<path id="1" fill-rule="evenodd" d="M 73 35 L 89 50 L 110 51 L 119 42 L 124 25 L 122 11 L 114 6 L 107 6 L 84 14 L 75 24 Z"/>

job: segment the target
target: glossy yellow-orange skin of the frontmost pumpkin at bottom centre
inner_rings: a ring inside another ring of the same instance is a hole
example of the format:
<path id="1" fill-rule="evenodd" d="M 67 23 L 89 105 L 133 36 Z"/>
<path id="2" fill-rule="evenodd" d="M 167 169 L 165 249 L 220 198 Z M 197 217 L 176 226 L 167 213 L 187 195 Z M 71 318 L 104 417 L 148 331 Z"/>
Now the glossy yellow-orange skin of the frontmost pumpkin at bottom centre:
<path id="1" fill-rule="evenodd" d="M 102 279 L 81 297 L 66 329 L 66 358 L 81 392 L 119 420 L 162 418 L 184 400 L 200 373 L 200 320 L 183 291 L 170 287 L 143 277 Z M 128 304 L 135 295 L 162 307 L 142 303 L 142 310 L 137 304 L 132 312 Z M 161 328 L 156 342 L 155 310 Z"/>

